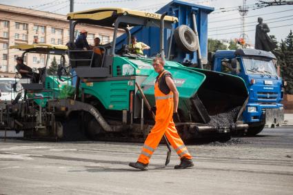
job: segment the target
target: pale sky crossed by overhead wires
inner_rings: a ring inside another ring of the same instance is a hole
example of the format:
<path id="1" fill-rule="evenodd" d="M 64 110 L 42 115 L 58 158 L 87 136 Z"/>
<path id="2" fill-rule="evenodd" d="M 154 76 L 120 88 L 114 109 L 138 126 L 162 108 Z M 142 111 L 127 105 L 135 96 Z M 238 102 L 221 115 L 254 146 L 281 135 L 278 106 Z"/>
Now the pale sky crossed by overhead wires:
<path id="1" fill-rule="evenodd" d="M 243 5 L 243 0 L 183 0 L 190 3 L 199 3 L 215 8 L 209 16 L 208 36 L 213 39 L 235 39 L 239 38 L 241 32 L 241 17 L 238 7 Z M 264 0 L 273 1 L 273 0 Z M 58 14 L 69 12 L 70 0 L 0 0 L 0 3 L 32 8 Z M 121 7 L 156 12 L 170 0 L 74 0 L 74 11 L 88 10 L 101 7 Z M 293 5 L 292 6 L 270 6 L 266 8 L 256 8 L 256 0 L 247 0 L 247 17 L 245 18 L 245 30 L 248 42 L 254 44 L 255 25 L 257 18 L 263 17 L 263 22 L 270 28 L 269 34 L 274 34 L 278 41 L 285 39 L 290 30 L 293 29 Z M 223 12 L 225 11 L 225 12 Z"/>

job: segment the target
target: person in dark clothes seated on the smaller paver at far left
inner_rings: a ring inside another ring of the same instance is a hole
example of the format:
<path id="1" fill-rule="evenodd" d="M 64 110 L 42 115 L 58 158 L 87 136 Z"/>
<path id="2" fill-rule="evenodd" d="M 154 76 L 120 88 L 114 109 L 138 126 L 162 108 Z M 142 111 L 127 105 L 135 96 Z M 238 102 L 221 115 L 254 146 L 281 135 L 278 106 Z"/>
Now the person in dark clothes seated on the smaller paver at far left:
<path id="1" fill-rule="evenodd" d="M 31 79 L 32 83 L 39 83 L 40 75 L 32 71 L 28 65 L 23 63 L 22 57 L 17 57 L 17 65 L 15 66 L 17 72 L 21 74 L 22 79 Z"/>

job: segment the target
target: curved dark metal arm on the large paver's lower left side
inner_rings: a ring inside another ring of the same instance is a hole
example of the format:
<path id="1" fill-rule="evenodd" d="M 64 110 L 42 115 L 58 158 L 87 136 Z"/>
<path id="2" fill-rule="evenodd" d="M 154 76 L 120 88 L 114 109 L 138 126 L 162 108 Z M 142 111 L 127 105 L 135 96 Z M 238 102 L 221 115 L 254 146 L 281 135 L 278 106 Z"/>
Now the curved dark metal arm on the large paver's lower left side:
<path id="1" fill-rule="evenodd" d="M 57 112 L 63 111 L 65 112 L 66 116 L 70 114 L 72 111 L 85 111 L 89 112 L 94 116 L 94 119 L 97 120 L 97 122 L 103 127 L 103 130 L 105 132 L 115 132 L 115 129 L 112 129 L 112 127 L 105 121 L 103 116 L 100 114 L 100 112 L 93 107 L 92 105 L 88 103 L 83 103 L 81 101 L 74 101 L 72 99 L 60 99 L 55 101 L 49 102 L 50 107 L 55 107 L 55 110 L 58 110 Z"/>

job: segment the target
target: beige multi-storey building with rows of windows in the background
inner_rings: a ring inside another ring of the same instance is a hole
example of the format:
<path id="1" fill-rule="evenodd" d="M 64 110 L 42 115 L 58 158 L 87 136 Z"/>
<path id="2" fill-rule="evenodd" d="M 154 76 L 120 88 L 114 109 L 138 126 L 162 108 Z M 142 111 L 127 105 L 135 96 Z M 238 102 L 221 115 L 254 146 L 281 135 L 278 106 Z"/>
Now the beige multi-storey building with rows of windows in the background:
<path id="1" fill-rule="evenodd" d="M 95 37 L 99 37 L 102 44 L 112 41 L 111 28 L 77 25 L 75 36 L 81 29 L 88 30 L 89 44 L 93 45 Z M 0 77 L 14 77 L 15 58 L 22 54 L 9 47 L 21 43 L 32 44 L 36 40 L 38 43 L 68 43 L 69 21 L 66 16 L 0 4 Z M 24 60 L 31 68 L 41 68 L 46 63 L 44 54 L 28 54 Z M 59 61 L 57 58 L 57 63 Z"/>

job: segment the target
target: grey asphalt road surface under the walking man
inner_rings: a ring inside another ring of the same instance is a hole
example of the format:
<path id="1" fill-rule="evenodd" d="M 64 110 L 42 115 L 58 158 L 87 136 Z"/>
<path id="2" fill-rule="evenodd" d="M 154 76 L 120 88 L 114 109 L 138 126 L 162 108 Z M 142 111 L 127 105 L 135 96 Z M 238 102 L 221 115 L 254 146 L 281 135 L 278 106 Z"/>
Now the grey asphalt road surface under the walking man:
<path id="1" fill-rule="evenodd" d="M 0 140 L 0 194 L 292 194 L 293 127 L 188 145 L 195 167 L 163 168 L 160 145 L 141 172 L 141 143 Z"/>

